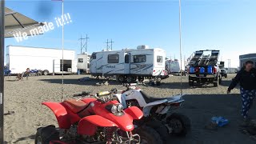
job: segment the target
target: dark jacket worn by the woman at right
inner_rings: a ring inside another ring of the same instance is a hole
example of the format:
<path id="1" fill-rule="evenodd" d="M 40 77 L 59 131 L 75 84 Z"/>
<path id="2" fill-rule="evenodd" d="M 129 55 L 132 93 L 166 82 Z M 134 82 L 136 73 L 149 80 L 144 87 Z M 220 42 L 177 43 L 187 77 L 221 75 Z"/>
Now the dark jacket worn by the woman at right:
<path id="1" fill-rule="evenodd" d="M 253 68 L 248 72 L 242 68 L 242 70 L 238 71 L 235 78 L 232 79 L 228 90 L 233 90 L 238 83 L 240 83 L 244 90 L 256 90 L 256 69 Z"/>

